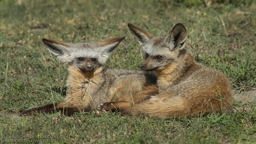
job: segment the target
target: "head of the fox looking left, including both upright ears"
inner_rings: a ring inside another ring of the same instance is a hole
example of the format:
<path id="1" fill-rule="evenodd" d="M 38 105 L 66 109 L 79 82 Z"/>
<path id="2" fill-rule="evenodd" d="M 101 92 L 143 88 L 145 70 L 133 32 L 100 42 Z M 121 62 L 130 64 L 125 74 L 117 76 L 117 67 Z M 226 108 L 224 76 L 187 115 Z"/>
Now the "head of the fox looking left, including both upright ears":
<path id="1" fill-rule="evenodd" d="M 140 68 L 145 71 L 162 70 L 176 62 L 187 37 L 186 28 L 181 23 L 176 24 L 167 36 L 154 36 L 130 23 L 128 27 L 143 46 L 146 60 Z"/>

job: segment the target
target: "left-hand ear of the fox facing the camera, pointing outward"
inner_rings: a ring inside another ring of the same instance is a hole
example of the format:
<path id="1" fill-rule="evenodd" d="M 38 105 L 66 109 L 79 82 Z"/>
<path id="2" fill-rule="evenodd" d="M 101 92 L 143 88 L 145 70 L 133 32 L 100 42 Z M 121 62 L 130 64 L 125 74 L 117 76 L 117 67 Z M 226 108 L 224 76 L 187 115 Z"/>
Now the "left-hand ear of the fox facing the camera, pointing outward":
<path id="1" fill-rule="evenodd" d="M 64 56 L 68 53 L 69 44 L 51 39 L 42 39 L 44 45 L 55 55 Z"/>

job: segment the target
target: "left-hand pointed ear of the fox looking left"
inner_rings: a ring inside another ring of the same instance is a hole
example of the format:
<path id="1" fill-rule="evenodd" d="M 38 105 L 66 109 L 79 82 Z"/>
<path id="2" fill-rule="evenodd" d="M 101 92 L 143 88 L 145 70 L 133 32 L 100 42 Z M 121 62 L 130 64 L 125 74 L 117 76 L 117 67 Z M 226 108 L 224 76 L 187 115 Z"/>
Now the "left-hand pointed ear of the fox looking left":
<path id="1" fill-rule="evenodd" d="M 131 23 L 128 23 L 128 27 L 132 34 L 138 39 L 139 43 L 142 45 L 146 45 L 148 43 L 148 40 L 154 36 L 146 30 L 138 28 Z"/>

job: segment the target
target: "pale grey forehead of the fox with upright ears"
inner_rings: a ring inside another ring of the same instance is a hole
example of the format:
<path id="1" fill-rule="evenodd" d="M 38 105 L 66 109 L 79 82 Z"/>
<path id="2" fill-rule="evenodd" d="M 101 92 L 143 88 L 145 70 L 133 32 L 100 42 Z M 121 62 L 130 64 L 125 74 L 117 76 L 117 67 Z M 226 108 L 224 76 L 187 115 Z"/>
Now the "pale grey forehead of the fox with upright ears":
<path id="1" fill-rule="evenodd" d="M 169 48 L 164 44 L 165 36 L 154 36 L 149 39 L 148 44 L 143 47 L 144 52 L 149 55 L 163 55 L 170 53 Z"/>

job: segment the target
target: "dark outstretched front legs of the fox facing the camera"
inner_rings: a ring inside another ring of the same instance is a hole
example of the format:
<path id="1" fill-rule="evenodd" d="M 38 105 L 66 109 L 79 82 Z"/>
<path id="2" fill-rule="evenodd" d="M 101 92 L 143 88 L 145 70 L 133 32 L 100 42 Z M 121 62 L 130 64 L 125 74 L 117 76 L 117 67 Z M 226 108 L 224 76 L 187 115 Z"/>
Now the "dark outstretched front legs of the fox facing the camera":
<path id="1" fill-rule="evenodd" d="M 79 112 L 79 108 L 76 107 L 67 107 L 67 102 L 62 101 L 62 102 L 58 102 L 55 104 L 48 104 L 48 105 L 44 105 L 42 107 L 37 107 L 37 108 L 31 108 L 28 110 L 24 110 L 20 113 L 20 116 L 32 116 L 32 115 L 36 115 L 38 113 L 55 113 L 55 112 L 59 112 L 61 111 L 61 113 L 63 113 L 64 115 L 67 116 L 71 116 L 73 115 L 75 112 Z"/>

